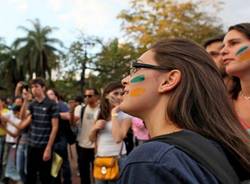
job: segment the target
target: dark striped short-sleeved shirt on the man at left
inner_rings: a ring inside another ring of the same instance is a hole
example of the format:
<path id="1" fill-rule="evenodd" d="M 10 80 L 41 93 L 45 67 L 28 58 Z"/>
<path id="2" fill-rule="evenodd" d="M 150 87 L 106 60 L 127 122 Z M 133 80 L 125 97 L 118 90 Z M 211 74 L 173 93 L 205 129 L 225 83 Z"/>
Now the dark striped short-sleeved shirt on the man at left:
<path id="1" fill-rule="evenodd" d="M 42 102 L 33 101 L 29 105 L 32 122 L 29 132 L 29 144 L 34 147 L 46 147 L 51 133 L 52 118 L 59 117 L 56 102 L 45 97 Z"/>

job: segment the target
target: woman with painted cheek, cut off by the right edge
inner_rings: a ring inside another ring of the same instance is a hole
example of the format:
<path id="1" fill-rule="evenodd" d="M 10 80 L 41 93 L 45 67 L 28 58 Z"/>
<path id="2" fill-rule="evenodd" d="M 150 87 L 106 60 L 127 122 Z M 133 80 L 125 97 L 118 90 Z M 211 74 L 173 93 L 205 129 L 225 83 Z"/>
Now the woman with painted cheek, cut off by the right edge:
<path id="1" fill-rule="evenodd" d="M 240 122 L 250 133 L 250 23 L 229 27 L 222 49 L 226 72 L 234 77 L 231 91 Z"/>

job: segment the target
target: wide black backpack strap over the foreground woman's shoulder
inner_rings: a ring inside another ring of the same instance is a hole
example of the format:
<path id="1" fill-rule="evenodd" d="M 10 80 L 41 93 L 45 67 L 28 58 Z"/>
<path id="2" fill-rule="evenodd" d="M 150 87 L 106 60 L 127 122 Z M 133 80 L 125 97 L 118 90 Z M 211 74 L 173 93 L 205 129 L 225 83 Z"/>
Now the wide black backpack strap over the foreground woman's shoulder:
<path id="1" fill-rule="evenodd" d="M 223 151 L 195 132 L 184 130 L 152 140 L 176 146 L 210 171 L 222 184 L 239 183 L 239 178 Z"/>

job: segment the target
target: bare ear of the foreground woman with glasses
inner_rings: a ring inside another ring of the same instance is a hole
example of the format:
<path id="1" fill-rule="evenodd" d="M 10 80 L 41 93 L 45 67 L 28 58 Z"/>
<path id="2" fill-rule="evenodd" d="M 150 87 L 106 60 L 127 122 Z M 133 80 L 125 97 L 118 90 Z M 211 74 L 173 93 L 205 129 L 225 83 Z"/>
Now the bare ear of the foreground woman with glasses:
<path id="1" fill-rule="evenodd" d="M 165 93 L 172 91 L 181 81 L 180 70 L 171 70 L 164 74 L 162 77 L 158 91 L 160 93 Z"/>

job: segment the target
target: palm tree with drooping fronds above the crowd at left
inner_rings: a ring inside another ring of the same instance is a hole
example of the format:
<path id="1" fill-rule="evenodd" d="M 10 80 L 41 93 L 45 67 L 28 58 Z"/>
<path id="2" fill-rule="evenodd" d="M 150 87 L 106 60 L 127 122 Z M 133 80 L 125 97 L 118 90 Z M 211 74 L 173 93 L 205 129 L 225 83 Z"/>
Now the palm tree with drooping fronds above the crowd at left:
<path id="1" fill-rule="evenodd" d="M 26 32 L 26 36 L 17 38 L 14 42 L 17 53 L 17 62 L 28 74 L 29 78 L 33 73 L 37 77 L 48 78 L 51 80 L 51 70 L 58 66 L 61 51 L 54 47 L 55 44 L 63 47 L 60 40 L 51 38 L 50 34 L 55 28 L 42 26 L 40 21 L 30 20 L 33 29 L 20 26 Z"/>

